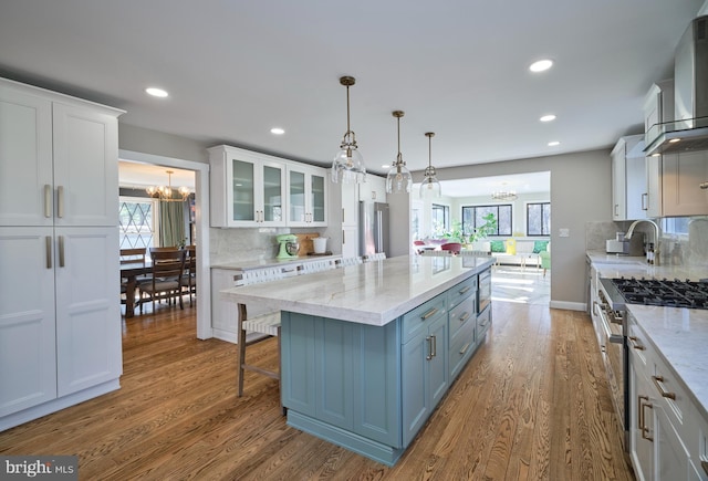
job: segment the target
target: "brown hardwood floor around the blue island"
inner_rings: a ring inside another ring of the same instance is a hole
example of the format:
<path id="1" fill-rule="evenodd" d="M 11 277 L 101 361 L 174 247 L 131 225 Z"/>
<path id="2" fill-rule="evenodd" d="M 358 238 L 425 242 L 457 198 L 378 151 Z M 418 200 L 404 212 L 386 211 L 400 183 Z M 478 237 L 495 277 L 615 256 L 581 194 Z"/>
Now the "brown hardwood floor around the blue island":
<path id="1" fill-rule="evenodd" d="M 590 320 L 496 302 L 472 360 L 394 468 L 285 425 L 275 380 L 195 337 L 196 307 L 124 320 L 122 389 L 0 432 L 0 454 L 77 454 L 82 480 L 631 480 Z M 249 359 L 275 365 L 274 339 Z"/>

